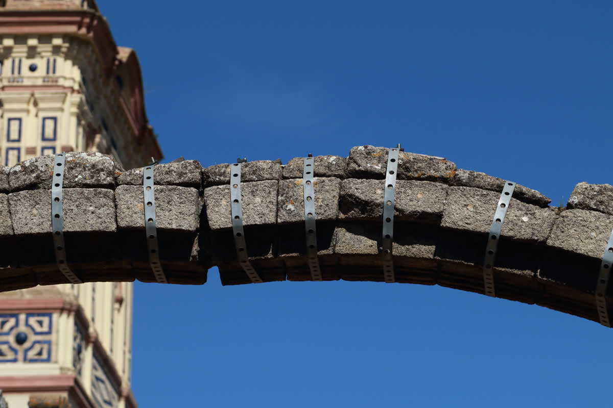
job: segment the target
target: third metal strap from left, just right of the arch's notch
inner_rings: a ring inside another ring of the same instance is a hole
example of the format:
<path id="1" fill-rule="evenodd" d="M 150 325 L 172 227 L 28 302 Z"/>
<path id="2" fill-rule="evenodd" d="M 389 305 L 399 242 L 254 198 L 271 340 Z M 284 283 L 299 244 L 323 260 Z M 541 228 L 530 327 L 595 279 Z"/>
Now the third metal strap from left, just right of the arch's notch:
<path id="1" fill-rule="evenodd" d="M 238 163 L 230 168 L 230 199 L 232 200 L 232 231 L 234 232 L 234 245 L 238 263 L 245 270 L 247 276 L 253 283 L 262 283 L 262 278 L 253 269 L 247 254 L 245 243 L 245 231 L 243 231 L 243 199 L 240 195 L 240 168 L 241 163 L 246 160 L 238 160 Z"/>

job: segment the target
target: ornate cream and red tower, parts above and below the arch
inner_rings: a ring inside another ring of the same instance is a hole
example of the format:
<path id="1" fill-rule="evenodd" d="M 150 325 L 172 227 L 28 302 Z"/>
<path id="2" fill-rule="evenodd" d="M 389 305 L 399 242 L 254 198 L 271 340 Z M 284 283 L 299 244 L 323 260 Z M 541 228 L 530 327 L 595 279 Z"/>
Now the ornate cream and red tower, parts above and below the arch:
<path id="1" fill-rule="evenodd" d="M 125 168 L 162 158 L 137 56 L 115 45 L 93 0 L 0 0 L 0 64 L 2 165 L 72 150 Z M 135 407 L 131 317 L 131 282 L 0 294 L 9 407 Z"/>

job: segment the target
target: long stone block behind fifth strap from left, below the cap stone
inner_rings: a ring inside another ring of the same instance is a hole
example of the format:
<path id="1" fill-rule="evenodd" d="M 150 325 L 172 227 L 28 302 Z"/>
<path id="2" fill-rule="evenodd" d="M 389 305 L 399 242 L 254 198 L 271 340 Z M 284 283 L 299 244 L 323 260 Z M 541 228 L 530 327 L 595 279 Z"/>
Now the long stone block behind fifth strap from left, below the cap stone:
<path id="1" fill-rule="evenodd" d="M 343 180 L 338 218 L 381 220 L 385 188 L 385 180 Z M 397 180 L 394 220 L 440 223 L 448 188 L 429 181 Z"/>

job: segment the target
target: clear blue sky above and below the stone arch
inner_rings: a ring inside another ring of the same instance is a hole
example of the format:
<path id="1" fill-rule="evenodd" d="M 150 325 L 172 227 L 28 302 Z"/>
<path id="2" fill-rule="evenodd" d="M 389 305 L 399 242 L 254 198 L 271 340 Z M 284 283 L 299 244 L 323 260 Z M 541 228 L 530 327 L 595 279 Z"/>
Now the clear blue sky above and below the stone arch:
<path id="1" fill-rule="evenodd" d="M 611 183 L 613 3 L 104 1 L 166 160 L 443 156 L 541 191 Z M 383 283 L 135 285 L 141 407 L 609 406 L 613 331 Z M 195 405 L 194 405 L 195 404 Z"/>

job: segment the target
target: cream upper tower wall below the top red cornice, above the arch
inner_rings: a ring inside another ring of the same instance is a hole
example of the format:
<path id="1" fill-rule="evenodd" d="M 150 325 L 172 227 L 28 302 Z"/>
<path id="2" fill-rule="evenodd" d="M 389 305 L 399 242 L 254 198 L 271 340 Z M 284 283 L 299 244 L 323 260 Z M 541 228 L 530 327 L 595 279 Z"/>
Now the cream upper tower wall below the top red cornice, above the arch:
<path id="1" fill-rule="evenodd" d="M 124 50 L 119 61 L 131 51 Z M 93 45 L 63 34 L 5 34 L 0 55 L 4 166 L 83 150 L 113 155 L 126 168 L 147 161 L 120 103 L 129 79 L 116 75 L 109 86 Z"/>

